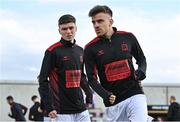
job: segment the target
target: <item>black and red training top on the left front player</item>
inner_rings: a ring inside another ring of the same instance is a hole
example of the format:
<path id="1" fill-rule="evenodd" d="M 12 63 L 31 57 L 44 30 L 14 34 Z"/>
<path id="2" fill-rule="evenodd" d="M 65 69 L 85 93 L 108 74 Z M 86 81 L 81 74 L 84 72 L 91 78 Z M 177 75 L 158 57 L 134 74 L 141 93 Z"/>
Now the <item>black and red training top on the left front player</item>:
<path id="1" fill-rule="evenodd" d="M 86 110 L 92 103 L 92 92 L 83 71 L 83 49 L 61 39 L 50 46 L 43 59 L 39 75 L 39 93 L 46 114 L 56 110 L 58 114 L 74 114 Z"/>

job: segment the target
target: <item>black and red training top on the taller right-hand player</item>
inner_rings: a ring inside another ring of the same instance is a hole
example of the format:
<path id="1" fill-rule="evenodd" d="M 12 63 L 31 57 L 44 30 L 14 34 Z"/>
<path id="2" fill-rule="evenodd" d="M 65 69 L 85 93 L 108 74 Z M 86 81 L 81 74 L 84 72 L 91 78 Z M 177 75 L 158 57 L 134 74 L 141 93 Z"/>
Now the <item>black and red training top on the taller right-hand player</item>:
<path id="1" fill-rule="evenodd" d="M 110 40 L 96 37 L 84 50 L 88 83 L 104 99 L 105 106 L 117 104 L 136 94 L 144 94 L 139 81 L 146 77 L 146 58 L 136 37 L 129 32 L 117 31 L 114 27 L 113 30 Z M 132 57 L 138 64 L 136 71 Z M 114 104 L 108 100 L 111 94 L 116 95 Z"/>

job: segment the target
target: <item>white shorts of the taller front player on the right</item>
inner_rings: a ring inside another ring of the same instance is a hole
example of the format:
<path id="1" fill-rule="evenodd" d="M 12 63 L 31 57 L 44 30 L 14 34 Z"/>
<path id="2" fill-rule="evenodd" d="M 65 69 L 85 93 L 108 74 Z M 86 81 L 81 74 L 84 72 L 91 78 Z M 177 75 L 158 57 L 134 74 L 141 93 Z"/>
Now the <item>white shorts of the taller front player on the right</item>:
<path id="1" fill-rule="evenodd" d="M 110 107 L 106 107 L 107 121 L 147 122 L 147 102 L 143 94 L 134 95 Z"/>

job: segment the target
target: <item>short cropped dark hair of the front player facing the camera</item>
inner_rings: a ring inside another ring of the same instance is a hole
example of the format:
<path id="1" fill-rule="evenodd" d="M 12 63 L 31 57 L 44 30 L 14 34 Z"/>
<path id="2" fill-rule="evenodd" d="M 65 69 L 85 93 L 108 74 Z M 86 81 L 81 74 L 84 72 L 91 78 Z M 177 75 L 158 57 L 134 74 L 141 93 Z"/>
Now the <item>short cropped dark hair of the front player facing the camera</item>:
<path id="1" fill-rule="evenodd" d="M 75 17 L 70 14 L 65 14 L 59 18 L 58 25 L 66 24 L 66 23 L 70 23 L 70 22 L 76 23 Z"/>

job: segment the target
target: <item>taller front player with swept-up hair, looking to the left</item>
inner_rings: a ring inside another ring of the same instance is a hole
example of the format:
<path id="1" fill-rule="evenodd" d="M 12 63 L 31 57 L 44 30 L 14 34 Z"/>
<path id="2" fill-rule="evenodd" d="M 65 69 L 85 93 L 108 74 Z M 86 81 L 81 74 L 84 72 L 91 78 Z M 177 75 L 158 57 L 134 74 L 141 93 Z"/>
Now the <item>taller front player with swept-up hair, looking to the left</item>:
<path id="1" fill-rule="evenodd" d="M 89 12 L 97 37 L 84 51 L 88 82 L 103 98 L 108 121 L 145 122 L 146 96 L 139 83 L 146 77 L 146 58 L 132 33 L 112 27 L 112 15 L 108 6 L 98 5 Z"/>

